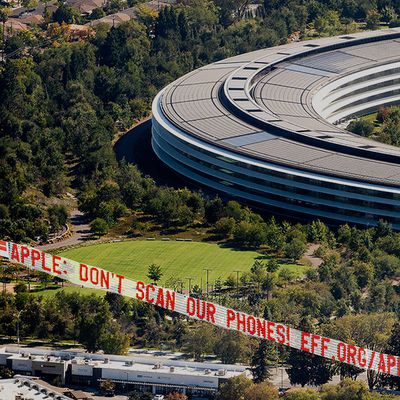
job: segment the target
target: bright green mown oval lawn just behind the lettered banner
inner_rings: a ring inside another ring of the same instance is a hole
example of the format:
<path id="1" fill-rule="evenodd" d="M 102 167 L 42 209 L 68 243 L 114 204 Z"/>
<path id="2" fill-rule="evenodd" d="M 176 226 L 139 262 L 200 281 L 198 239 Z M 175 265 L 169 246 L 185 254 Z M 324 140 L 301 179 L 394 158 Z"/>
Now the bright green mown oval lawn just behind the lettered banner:
<path id="1" fill-rule="evenodd" d="M 249 271 L 256 259 L 264 259 L 255 251 L 239 251 L 217 244 L 199 242 L 163 242 L 135 240 L 83 246 L 61 253 L 75 261 L 96 265 L 111 272 L 117 272 L 134 280 L 144 280 L 150 264 L 160 265 L 163 271 L 161 284 L 171 277 L 181 279 L 187 287 L 187 277 L 192 285 L 205 286 L 205 268 L 210 269 L 209 282 L 217 278 L 226 279 L 233 271 Z M 283 264 L 297 275 L 302 275 L 307 267 Z"/>

